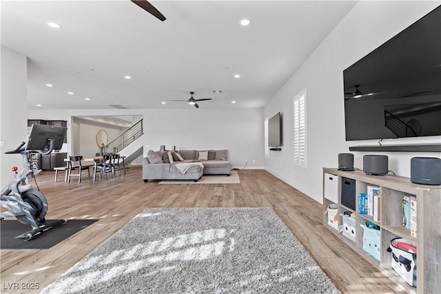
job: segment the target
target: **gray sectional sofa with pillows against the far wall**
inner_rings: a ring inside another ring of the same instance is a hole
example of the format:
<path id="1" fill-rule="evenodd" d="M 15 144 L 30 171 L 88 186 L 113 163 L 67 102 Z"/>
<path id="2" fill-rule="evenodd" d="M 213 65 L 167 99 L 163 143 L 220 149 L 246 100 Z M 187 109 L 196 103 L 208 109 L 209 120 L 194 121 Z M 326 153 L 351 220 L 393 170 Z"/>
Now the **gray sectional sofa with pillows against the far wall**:
<path id="1" fill-rule="evenodd" d="M 202 165 L 201 165 L 202 164 Z M 183 173 L 180 169 L 187 168 Z M 148 151 L 143 158 L 143 180 L 194 180 L 203 175 L 231 174 L 228 150 Z"/>

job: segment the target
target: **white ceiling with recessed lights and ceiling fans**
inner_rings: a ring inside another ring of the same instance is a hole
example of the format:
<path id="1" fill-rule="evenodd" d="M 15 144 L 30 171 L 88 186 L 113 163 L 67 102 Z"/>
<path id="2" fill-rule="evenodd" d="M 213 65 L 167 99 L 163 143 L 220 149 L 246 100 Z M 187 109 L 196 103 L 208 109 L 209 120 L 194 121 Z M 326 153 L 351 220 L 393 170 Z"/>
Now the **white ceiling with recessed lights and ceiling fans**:
<path id="1" fill-rule="evenodd" d="M 151 3 L 164 22 L 128 0 L 1 1 L 1 45 L 28 56 L 28 109 L 189 108 L 161 102 L 190 91 L 213 98 L 201 108 L 263 107 L 356 1 Z"/>

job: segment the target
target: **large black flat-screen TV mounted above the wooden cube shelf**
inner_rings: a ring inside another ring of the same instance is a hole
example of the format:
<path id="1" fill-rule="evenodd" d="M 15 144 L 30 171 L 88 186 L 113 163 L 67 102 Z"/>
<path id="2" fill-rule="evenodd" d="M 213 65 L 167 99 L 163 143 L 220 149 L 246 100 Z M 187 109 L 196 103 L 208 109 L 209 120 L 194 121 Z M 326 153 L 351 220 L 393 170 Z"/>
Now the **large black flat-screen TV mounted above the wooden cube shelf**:
<path id="1" fill-rule="evenodd" d="M 441 6 L 343 79 L 346 140 L 441 136 Z"/>

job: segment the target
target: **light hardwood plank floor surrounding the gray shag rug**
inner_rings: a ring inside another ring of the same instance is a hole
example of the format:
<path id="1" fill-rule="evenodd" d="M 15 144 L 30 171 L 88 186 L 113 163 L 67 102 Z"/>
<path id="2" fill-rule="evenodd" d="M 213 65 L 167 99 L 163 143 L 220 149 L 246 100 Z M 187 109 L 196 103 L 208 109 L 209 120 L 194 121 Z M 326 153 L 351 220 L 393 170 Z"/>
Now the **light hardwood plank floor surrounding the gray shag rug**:
<path id="1" fill-rule="evenodd" d="M 343 293 L 407 293 L 322 227 L 322 205 L 263 170 L 238 171 L 240 184 L 158 185 L 143 182 L 140 168 L 110 180 L 54 182 L 53 171 L 37 176 L 48 198 L 47 219 L 96 218 L 71 238 L 46 250 L 1 250 L 1 292 L 6 283 L 39 283 L 40 290 L 151 207 L 272 207 Z M 85 176 L 84 178 L 87 178 Z"/>

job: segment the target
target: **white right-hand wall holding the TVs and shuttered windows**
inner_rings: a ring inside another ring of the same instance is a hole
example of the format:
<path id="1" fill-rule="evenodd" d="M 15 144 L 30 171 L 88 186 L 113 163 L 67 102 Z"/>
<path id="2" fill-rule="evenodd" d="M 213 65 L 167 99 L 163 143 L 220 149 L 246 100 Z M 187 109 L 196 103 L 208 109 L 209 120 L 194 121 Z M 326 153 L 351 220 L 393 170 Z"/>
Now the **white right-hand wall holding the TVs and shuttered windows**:
<path id="1" fill-rule="evenodd" d="M 378 48 L 440 4 L 439 1 L 360 1 L 322 41 L 309 58 L 265 106 L 264 117 L 283 112 L 283 150 L 270 151 L 265 169 L 289 185 L 322 202 L 322 167 L 337 167 L 338 154 L 353 145 L 376 145 L 377 140 L 345 141 L 342 71 Z M 292 98 L 307 89 L 307 168 L 293 165 Z M 384 144 L 440 143 L 431 138 L 389 139 Z M 355 167 L 362 156 L 353 152 Z M 377 153 L 379 154 L 379 153 Z M 439 153 L 382 152 L 389 169 L 410 176 L 410 158 L 441 157 Z"/>

